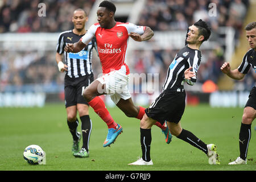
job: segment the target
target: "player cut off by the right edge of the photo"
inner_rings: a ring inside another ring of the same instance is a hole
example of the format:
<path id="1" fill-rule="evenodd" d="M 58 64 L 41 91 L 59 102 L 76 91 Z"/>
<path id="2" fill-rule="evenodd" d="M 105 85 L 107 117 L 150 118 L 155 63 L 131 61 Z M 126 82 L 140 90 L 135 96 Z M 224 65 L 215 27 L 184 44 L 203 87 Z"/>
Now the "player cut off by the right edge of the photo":
<path id="1" fill-rule="evenodd" d="M 234 70 L 231 70 L 229 63 L 224 63 L 221 66 L 221 71 L 230 78 L 242 80 L 245 74 L 253 67 L 256 72 L 256 22 L 251 22 L 245 27 L 245 34 L 251 49 L 243 56 L 241 65 Z M 251 139 L 251 123 L 256 117 L 256 88 L 251 89 L 249 98 L 246 102 L 245 109 L 243 109 L 242 123 L 239 133 L 239 148 L 240 156 L 230 162 L 229 165 L 247 164 L 247 151 Z"/>

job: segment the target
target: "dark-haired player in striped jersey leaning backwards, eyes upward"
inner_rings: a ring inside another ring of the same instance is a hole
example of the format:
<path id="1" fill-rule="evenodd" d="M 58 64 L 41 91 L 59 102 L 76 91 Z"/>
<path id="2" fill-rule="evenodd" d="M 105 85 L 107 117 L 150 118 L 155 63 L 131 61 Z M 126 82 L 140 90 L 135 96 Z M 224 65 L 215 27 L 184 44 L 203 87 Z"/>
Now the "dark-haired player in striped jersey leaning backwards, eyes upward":
<path id="1" fill-rule="evenodd" d="M 215 144 L 205 144 L 190 131 L 183 129 L 180 119 L 185 109 L 184 82 L 193 85 L 201 62 L 201 44 L 208 40 L 210 28 L 203 20 L 199 20 L 188 28 L 186 44 L 168 68 L 162 93 L 146 109 L 141 120 L 142 158 L 129 165 L 153 165 L 150 158 L 151 127 L 156 121 L 167 121 L 171 134 L 203 151 L 208 156 L 209 164 L 220 164 Z M 190 70 L 192 69 L 193 72 Z"/>

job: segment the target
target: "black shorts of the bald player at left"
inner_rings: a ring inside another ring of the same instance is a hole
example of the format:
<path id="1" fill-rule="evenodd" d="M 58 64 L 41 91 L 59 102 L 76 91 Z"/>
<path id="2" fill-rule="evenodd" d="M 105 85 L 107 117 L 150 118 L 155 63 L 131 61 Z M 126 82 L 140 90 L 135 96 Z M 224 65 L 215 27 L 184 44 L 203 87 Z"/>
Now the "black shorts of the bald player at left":
<path id="1" fill-rule="evenodd" d="M 93 82 L 93 74 L 85 75 L 78 78 L 71 78 L 65 76 L 64 93 L 65 93 L 65 107 L 86 104 L 89 105 L 85 98 L 82 97 L 82 92 L 91 82 Z"/>

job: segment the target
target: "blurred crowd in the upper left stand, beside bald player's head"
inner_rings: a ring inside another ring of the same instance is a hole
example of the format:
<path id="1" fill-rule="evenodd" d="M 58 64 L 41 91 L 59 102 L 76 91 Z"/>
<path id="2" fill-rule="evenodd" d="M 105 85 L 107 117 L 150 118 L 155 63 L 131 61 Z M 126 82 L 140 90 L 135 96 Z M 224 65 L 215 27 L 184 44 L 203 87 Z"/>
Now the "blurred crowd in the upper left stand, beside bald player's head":
<path id="1" fill-rule="evenodd" d="M 73 11 L 78 7 L 90 13 L 95 0 L 4 0 L 0 1 L 0 33 L 61 32 L 73 27 Z M 39 3 L 44 3 L 47 18 L 38 16 Z M 82 7 L 81 7 L 82 5 Z"/>

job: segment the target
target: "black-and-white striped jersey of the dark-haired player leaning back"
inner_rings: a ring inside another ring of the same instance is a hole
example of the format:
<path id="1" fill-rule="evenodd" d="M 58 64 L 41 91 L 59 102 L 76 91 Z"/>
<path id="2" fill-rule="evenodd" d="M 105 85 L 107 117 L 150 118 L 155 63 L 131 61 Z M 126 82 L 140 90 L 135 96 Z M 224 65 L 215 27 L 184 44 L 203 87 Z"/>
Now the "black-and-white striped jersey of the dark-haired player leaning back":
<path id="1" fill-rule="evenodd" d="M 197 49 L 192 49 L 187 46 L 177 52 L 174 60 L 170 64 L 164 82 L 162 92 L 164 90 L 172 89 L 184 89 L 184 81 L 187 81 L 189 85 L 193 85 L 196 82 L 197 71 L 200 67 L 201 52 Z M 192 77 L 191 80 L 184 79 L 184 71 L 192 67 L 193 72 L 196 76 Z"/>

